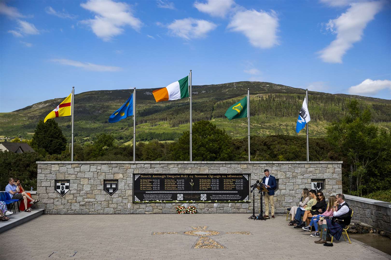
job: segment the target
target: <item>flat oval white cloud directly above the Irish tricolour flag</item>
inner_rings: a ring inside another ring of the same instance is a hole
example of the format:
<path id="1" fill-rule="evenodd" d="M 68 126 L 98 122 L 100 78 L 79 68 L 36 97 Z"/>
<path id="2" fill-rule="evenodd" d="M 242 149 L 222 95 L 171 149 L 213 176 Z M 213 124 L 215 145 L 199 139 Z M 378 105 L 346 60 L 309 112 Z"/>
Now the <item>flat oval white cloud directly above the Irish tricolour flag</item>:
<path id="1" fill-rule="evenodd" d="M 167 25 L 172 34 L 187 40 L 206 37 L 206 34 L 216 27 L 217 25 L 210 21 L 194 18 L 174 20 Z"/>

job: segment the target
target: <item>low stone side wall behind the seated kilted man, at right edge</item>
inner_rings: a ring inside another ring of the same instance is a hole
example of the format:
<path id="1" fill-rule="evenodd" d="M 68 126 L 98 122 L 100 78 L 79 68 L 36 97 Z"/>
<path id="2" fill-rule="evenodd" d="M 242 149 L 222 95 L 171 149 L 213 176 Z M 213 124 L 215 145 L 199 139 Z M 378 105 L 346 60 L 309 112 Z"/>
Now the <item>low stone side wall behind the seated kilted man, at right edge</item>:
<path id="1" fill-rule="evenodd" d="M 391 203 L 352 195 L 344 196 L 354 211 L 353 220 L 391 232 Z"/>

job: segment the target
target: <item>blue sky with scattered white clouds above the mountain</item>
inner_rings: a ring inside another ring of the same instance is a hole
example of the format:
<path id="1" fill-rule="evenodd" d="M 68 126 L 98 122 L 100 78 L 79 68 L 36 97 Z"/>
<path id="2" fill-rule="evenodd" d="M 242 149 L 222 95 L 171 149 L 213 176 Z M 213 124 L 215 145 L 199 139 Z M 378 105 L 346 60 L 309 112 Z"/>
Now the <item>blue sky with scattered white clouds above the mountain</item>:
<path id="1" fill-rule="evenodd" d="M 391 99 L 390 1 L 0 0 L 0 112 L 90 90 L 267 81 Z M 251 91 L 251 90 L 250 90 Z"/>

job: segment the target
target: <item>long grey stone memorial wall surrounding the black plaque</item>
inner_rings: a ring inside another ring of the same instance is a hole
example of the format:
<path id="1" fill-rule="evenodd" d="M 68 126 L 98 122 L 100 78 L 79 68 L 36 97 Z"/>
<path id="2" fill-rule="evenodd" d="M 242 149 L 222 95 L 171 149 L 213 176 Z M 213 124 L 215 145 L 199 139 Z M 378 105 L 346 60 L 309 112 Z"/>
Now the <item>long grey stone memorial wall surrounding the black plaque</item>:
<path id="1" fill-rule="evenodd" d="M 194 173 L 249 174 L 251 184 L 264 177 L 264 169 L 278 179 L 274 195 L 276 213 L 297 205 L 301 189 L 311 188 L 311 179 L 324 179 L 325 196 L 342 192 L 342 162 L 111 162 L 111 161 L 39 161 L 37 195 L 39 208 L 47 214 L 144 214 L 176 213 L 180 203 L 132 203 L 133 174 Z M 64 196 L 54 188 L 56 179 L 70 179 L 70 191 Z M 103 190 L 105 179 L 118 179 L 118 191 L 109 196 Z M 252 213 L 251 203 L 192 203 L 198 213 Z M 259 196 L 255 212 L 259 213 Z M 188 205 L 188 204 L 184 204 Z"/>

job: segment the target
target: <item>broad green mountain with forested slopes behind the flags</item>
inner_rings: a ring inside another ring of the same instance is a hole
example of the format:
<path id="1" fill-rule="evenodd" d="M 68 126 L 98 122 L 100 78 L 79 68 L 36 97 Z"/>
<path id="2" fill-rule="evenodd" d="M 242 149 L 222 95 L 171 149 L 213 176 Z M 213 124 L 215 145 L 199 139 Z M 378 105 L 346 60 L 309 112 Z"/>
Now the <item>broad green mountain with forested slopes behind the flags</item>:
<path id="1" fill-rule="evenodd" d="M 226 110 L 242 99 L 250 89 L 251 133 L 296 135 L 296 120 L 305 90 L 258 81 L 240 81 L 192 87 L 193 120 L 211 120 L 235 138 L 247 136 L 247 119 L 229 121 Z M 129 143 L 133 137 L 133 120 L 108 123 L 109 116 L 130 96 L 133 90 L 97 90 L 75 94 L 75 141 L 92 141 L 99 133 L 110 133 L 118 143 Z M 0 137 L 31 138 L 39 119 L 52 111 L 65 97 L 51 99 L 10 113 L 0 113 Z M 346 94 L 308 92 L 310 137 L 325 135 L 325 127 L 344 115 L 347 103 L 359 99 L 368 106 L 373 121 L 391 129 L 391 100 Z M 70 117 L 55 119 L 65 136 L 70 136 Z M 189 101 L 182 99 L 156 103 L 152 89 L 136 90 L 136 140 L 176 140 L 189 129 Z M 302 130 L 299 135 L 305 135 Z"/>

